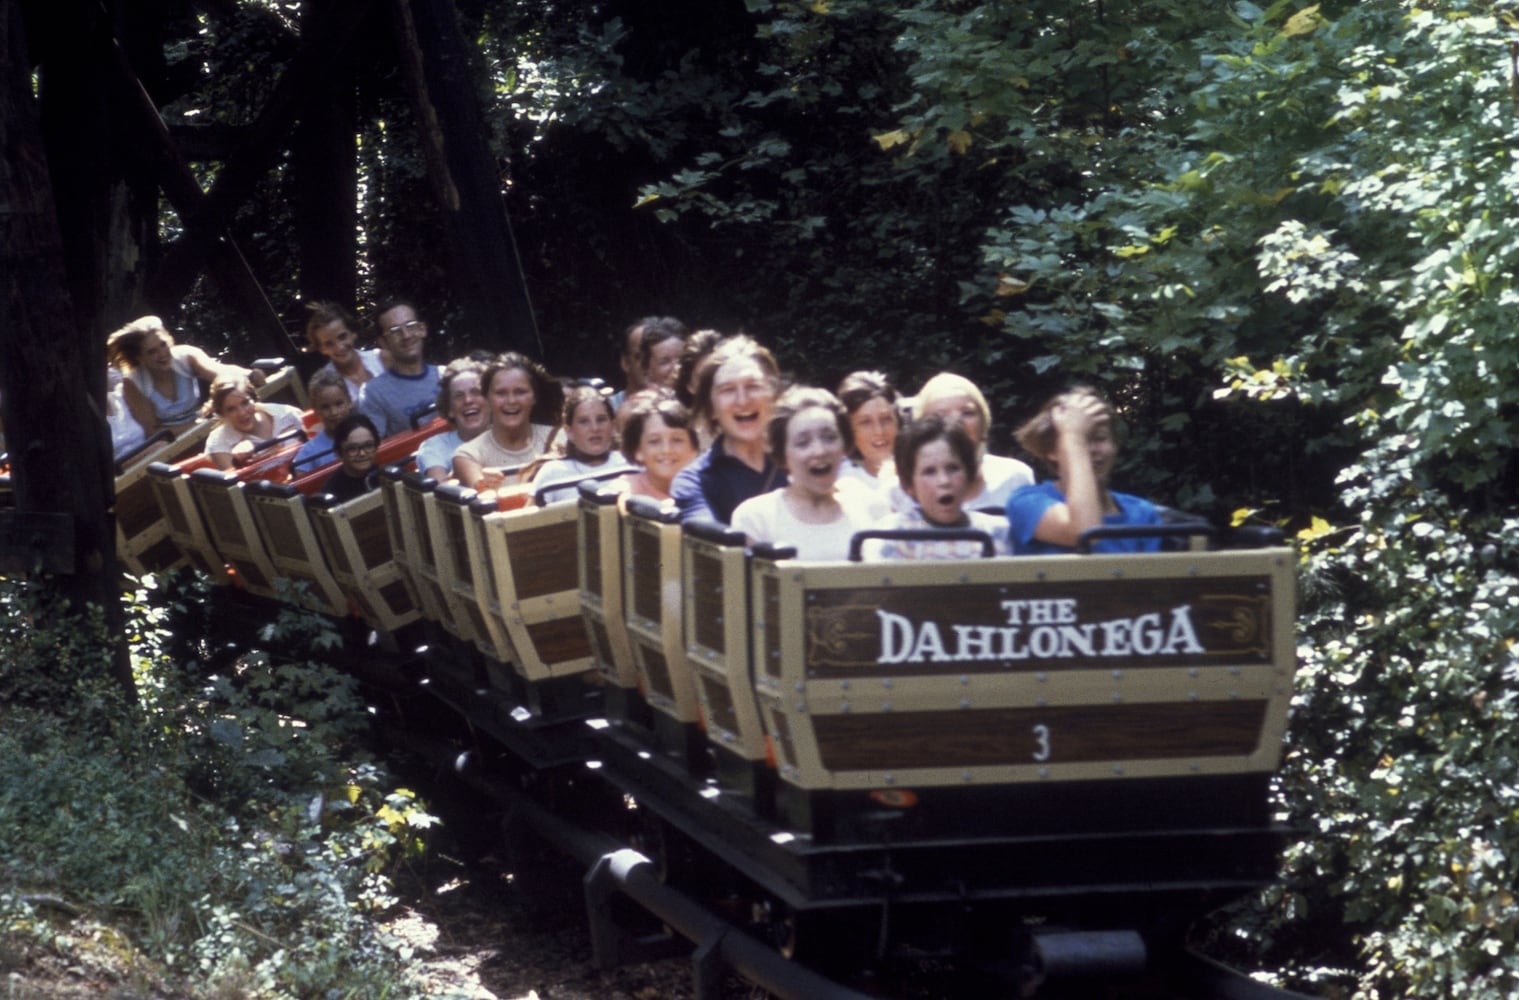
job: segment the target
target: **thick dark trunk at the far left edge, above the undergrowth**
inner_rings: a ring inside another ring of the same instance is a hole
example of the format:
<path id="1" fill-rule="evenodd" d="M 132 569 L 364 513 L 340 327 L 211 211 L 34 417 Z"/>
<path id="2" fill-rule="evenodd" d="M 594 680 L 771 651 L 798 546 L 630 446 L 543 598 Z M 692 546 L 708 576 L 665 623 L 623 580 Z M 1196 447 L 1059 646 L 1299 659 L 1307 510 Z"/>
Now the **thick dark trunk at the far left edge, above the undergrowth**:
<path id="1" fill-rule="evenodd" d="M 77 608 L 105 611 L 131 691 L 109 508 L 105 342 L 76 321 L 20 0 L 0 3 L 0 366 L 15 511 L 3 552 L 41 564 Z"/>

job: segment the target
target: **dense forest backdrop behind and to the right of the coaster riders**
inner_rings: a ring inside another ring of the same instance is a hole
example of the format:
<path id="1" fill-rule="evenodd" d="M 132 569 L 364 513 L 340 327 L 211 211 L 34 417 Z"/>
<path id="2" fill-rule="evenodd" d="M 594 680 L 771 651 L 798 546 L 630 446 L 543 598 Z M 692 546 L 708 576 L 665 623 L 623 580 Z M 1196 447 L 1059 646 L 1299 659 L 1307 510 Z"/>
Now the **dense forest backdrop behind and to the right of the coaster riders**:
<path id="1" fill-rule="evenodd" d="M 93 337 L 246 357 L 407 292 L 434 359 L 588 375 L 668 313 L 799 380 L 969 374 L 1003 450 L 1110 392 L 1124 488 L 1300 543 L 1303 837 L 1241 938 L 1356 995 L 1519 989 L 1519 5 L 73 8 L 27 14 Z M 161 143 L 90 100 L 108 59 Z"/>

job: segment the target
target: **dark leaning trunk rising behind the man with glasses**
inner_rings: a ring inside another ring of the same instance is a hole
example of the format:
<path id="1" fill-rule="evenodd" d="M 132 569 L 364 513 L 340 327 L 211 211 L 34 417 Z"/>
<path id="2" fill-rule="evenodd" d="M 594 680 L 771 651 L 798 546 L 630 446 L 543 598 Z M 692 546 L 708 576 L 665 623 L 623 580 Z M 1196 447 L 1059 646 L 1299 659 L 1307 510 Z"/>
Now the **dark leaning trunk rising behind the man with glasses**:
<path id="1" fill-rule="evenodd" d="M 453 0 L 392 0 L 396 49 L 447 223 L 466 342 L 544 357 Z"/>

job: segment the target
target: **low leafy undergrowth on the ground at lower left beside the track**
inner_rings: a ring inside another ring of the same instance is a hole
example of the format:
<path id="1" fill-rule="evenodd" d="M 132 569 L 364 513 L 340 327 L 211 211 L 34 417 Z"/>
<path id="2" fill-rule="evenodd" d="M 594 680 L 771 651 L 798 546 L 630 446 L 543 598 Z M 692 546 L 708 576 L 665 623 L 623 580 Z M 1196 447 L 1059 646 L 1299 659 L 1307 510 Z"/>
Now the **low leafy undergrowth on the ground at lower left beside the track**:
<path id="1" fill-rule="evenodd" d="M 310 658 L 325 620 L 287 609 L 264 640 L 305 655 L 246 650 L 204 676 L 164 653 L 170 602 L 146 597 L 140 707 L 79 698 L 94 688 L 76 681 L 5 711 L 0 825 L 27 836 L 0 840 L 0 929 L 46 933 L 23 898 L 47 894 L 129 915 L 129 947 L 185 986 L 416 995 L 374 916 L 434 821 L 355 739 L 368 716 L 351 678 Z M 76 632 L 52 619 L 33 641 L 68 649 Z"/>

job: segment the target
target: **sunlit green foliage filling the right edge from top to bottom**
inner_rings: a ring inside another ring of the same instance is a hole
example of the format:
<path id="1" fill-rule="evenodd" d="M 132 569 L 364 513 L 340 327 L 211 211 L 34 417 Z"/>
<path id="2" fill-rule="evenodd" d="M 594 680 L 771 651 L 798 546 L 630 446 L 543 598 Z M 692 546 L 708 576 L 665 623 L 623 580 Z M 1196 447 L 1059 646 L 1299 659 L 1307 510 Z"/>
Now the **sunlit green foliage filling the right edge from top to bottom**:
<path id="1" fill-rule="evenodd" d="M 1165 372 L 1198 394 L 1192 427 L 1233 407 L 1256 462 L 1303 450 L 1288 413 L 1317 418 L 1338 497 L 1305 532 L 1281 789 L 1308 836 L 1258 941 L 1360 953 L 1358 995 L 1507 997 L 1519 240 L 1495 220 L 1514 198 L 1514 24 L 1463 3 L 1233 14 L 1194 38 L 1185 87 L 1156 91 L 1185 114 L 1112 153 L 1147 167 L 1009 210 L 989 246 L 1024 307 L 1007 330 L 1051 369 Z M 1259 486 L 1297 523 L 1315 512 Z"/>

